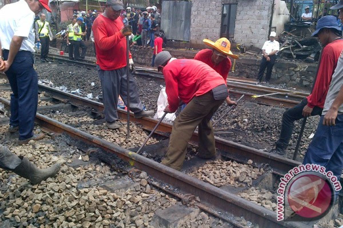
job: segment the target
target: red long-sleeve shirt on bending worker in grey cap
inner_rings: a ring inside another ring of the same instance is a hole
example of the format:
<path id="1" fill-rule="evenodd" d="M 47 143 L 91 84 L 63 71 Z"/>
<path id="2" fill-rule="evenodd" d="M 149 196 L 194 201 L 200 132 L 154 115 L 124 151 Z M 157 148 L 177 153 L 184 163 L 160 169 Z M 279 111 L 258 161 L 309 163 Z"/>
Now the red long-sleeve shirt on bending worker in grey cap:
<path id="1" fill-rule="evenodd" d="M 218 85 L 223 77 L 207 64 L 194 59 L 176 59 L 163 68 L 170 111 L 176 111 L 179 98 L 186 104 L 194 96 L 201 96 Z"/>

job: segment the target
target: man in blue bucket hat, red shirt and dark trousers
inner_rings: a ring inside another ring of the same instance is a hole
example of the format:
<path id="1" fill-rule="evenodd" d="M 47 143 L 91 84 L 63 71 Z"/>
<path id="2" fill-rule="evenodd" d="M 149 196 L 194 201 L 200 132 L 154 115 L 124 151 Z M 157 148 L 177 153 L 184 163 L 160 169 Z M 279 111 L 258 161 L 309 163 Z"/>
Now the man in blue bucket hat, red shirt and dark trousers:
<path id="1" fill-rule="evenodd" d="M 343 50 L 343 39 L 341 39 L 341 30 L 338 29 L 334 16 L 320 18 L 316 29 L 312 36 L 319 38 L 323 50 L 314 88 L 300 104 L 283 113 L 280 138 L 275 143 L 276 147 L 270 151 L 271 153 L 286 154 L 285 150 L 292 136 L 294 121 L 322 113 L 331 78 Z"/>

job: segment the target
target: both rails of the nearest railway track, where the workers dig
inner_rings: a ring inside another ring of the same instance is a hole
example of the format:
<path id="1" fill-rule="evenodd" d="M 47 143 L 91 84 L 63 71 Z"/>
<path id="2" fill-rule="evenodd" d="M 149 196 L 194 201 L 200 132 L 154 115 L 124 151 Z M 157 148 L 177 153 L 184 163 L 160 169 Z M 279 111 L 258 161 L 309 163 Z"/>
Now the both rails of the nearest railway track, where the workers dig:
<path id="1" fill-rule="evenodd" d="M 8 85 L 2 85 L 1 88 L 3 89 L 6 86 Z M 63 104 L 70 104 L 74 107 L 79 107 L 80 109 L 89 107 L 91 108 L 91 112 L 97 114 L 103 111 L 102 103 L 90 99 L 59 91 L 44 85 L 39 85 L 39 91 L 45 92 L 48 97 L 58 102 L 62 102 Z M 0 98 L 0 102 L 9 106 L 9 101 L 2 97 Z M 49 107 L 47 109 L 49 109 Z M 125 120 L 126 115 L 125 110 L 119 110 L 119 118 Z M 152 129 L 157 122 L 156 119 L 152 118 L 134 119 L 133 115 L 131 115 L 130 118 L 133 122 L 142 124 L 143 128 L 147 130 Z M 243 216 L 245 219 L 258 224 L 260 227 L 307 227 L 306 224 L 297 222 L 276 222 L 276 214 L 274 212 L 238 197 L 235 194 L 235 191 L 214 187 L 213 185 L 193 178 L 186 173 L 175 171 L 128 149 L 119 147 L 116 144 L 81 131 L 80 129 L 73 128 L 70 125 L 63 124 L 42 114 L 37 113 L 36 121 L 40 126 L 49 129 L 49 131 L 68 134 L 72 138 L 81 140 L 91 147 L 101 148 L 104 151 L 116 154 L 119 158 L 129 162 L 130 165 L 147 172 L 155 178 L 152 183 L 154 186 L 164 189 L 176 197 L 182 198 L 186 193 L 199 197 L 200 202 L 198 202 L 197 205 L 201 209 L 213 213 L 216 216 L 221 216 L 220 213 L 215 213 L 215 211 L 220 210 L 234 216 Z M 161 136 L 166 136 L 171 132 L 171 127 L 171 124 L 163 122 L 157 129 L 157 133 Z M 197 132 L 194 132 L 192 137 L 194 144 L 197 142 L 197 136 Z M 218 137 L 215 139 L 216 146 L 222 151 L 222 155 L 225 159 L 235 160 L 239 163 L 247 163 L 248 160 L 252 160 L 254 162 L 252 165 L 255 167 L 265 167 L 265 164 L 268 164 L 269 168 L 272 170 L 270 175 L 274 177 L 278 177 L 300 164 L 293 160 L 274 156 L 261 150 L 242 146 L 225 139 Z M 166 184 L 171 188 L 166 189 Z M 173 189 L 177 189 L 177 191 Z M 182 192 L 182 194 L 180 194 L 180 192 Z M 242 227 L 235 222 L 232 222 L 232 224 L 235 227 Z"/>

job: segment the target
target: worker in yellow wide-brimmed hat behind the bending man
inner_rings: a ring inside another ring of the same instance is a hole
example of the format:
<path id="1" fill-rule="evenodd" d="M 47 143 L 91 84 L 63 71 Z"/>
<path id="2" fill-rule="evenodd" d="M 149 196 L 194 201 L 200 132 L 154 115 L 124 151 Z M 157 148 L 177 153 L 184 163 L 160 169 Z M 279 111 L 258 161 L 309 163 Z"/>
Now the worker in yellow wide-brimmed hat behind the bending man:
<path id="1" fill-rule="evenodd" d="M 218 39 L 215 43 L 209 39 L 204 39 L 203 42 L 204 44 L 210 46 L 212 49 L 203 49 L 199 51 L 194 56 L 194 59 L 204 62 L 212 67 L 212 69 L 217 71 L 217 73 L 219 73 L 226 81 L 227 75 L 229 74 L 232 65 L 229 56 L 234 59 L 238 58 L 238 55 L 234 55 L 230 51 L 230 41 L 223 37 Z M 232 101 L 229 97 L 227 97 L 226 103 L 228 105 L 232 105 Z"/>

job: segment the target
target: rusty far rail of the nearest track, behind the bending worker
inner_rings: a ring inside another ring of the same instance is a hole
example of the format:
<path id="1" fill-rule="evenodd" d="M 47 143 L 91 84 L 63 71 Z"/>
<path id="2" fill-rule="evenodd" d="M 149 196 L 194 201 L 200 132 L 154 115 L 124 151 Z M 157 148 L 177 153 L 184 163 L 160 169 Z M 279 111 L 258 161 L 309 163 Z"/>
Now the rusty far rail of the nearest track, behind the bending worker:
<path id="1" fill-rule="evenodd" d="M 75 106 L 88 106 L 93 109 L 94 112 L 102 113 L 104 110 L 104 105 L 100 102 L 90 100 L 78 95 L 63 92 L 45 85 L 38 85 L 39 91 L 45 91 L 52 95 L 53 98 L 59 100 L 68 100 L 71 104 Z M 121 120 L 125 121 L 127 117 L 127 111 L 124 109 L 118 109 L 118 116 Z M 157 124 L 158 120 L 150 117 L 144 117 L 140 119 L 135 119 L 132 112 L 130 112 L 130 119 L 133 122 L 141 123 L 144 128 L 152 130 Z M 173 125 L 162 121 L 156 129 L 156 133 L 170 133 Z M 162 134 L 165 136 L 165 134 Z M 193 142 L 198 142 L 198 133 L 194 132 L 191 138 Z M 300 163 L 293 161 L 291 159 L 286 159 L 281 156 L 273 155 L 255 148 L 240 145 L 238 143 L 228 141 L 219 137 L 215 137 L 216 147 L 222 151 L 227 152 L 227 156 L 231 159 L 246 162 L 249 159 L 257 163 L 268 163 L 270 164 L 276 172 L 287 173 L 293 167 L 298 166 Z"/>

